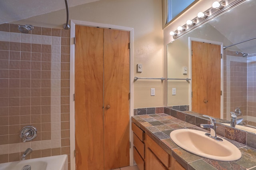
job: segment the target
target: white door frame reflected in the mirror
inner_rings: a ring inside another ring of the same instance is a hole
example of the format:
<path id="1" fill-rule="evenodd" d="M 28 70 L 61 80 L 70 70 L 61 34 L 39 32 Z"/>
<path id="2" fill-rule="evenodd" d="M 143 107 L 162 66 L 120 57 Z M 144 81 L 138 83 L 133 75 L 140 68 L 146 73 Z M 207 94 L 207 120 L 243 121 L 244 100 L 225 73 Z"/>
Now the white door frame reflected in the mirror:
<path id="1" fill-rule="evenodd" d="M 211 40 L 204 40 L 200 38 L 194 38 L 194 37 L 189 37 L 188 38 L 188 56 L 189 56 L 189 77 L 192 77 L 192 41 L 194 42 L 205 42 L 205 43 L 211 43 L 215 45 L 220 45 L 220 51 L 222 54 L 222 58 L 220 59 L 220 90 L 222 91 L 222 95 L 220 96 L 220 119 L 223 119 L 223 106 L 224 106 L 224 63 L 223 63 L 223 42 L 215 42 Z M 192 109 L 192 79 L 191 82 L 189 83 L 189 110 L 191 111 Z"/>

